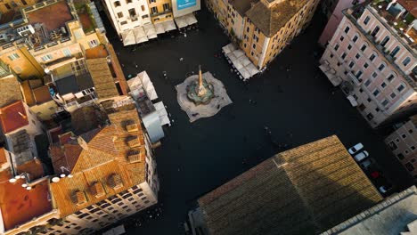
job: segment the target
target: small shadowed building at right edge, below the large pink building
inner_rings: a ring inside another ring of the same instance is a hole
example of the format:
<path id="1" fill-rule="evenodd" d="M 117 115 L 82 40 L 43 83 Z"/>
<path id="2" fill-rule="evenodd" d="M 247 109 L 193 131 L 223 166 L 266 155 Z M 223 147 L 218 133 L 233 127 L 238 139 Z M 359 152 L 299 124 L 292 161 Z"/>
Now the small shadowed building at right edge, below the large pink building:
<path id="1" fill-rule="evenodd" d="M 385 143 L 417 182 L 417 116 L 395 127 L 396 130 L 385 138 Z"/>

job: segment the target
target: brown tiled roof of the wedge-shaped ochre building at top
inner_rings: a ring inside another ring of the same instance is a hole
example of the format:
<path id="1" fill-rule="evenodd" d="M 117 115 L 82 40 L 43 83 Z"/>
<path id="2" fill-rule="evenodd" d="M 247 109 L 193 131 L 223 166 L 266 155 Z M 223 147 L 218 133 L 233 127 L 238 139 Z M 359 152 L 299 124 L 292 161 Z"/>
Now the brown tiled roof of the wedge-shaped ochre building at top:
<path id="1" fill-rule="evenodd" d="M 274 36 L 306 4 L 307 0 L 285 0 L 268 8 L 258 2 L 246 12 L 246 16 L 266 36 Z"/>

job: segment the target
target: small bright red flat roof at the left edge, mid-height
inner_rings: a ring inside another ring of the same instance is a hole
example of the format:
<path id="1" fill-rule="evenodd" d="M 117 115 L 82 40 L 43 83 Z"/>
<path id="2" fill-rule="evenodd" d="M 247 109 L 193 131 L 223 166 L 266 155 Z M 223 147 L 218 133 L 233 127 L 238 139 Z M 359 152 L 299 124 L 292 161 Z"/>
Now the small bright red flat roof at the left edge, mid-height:
<path id="1" fill-rule="evenodd" d="M 22 101 L 15 101 L 0 109 L 3 133 L 8 134 L 20 127 L 29 125 L 28 116 Z"/>

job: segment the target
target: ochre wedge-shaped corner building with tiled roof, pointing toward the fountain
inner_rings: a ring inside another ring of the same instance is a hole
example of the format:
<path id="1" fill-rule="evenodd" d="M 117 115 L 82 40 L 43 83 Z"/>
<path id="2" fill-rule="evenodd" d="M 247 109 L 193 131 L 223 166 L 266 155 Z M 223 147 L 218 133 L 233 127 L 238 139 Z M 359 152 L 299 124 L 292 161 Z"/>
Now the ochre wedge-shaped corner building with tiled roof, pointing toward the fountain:
<path id="1" fill-rule="evenodd" d="M 318 0 L 207 1 L 208 8 L 258 69 L 266 68 L 307 28 L 318 3 Z"/>

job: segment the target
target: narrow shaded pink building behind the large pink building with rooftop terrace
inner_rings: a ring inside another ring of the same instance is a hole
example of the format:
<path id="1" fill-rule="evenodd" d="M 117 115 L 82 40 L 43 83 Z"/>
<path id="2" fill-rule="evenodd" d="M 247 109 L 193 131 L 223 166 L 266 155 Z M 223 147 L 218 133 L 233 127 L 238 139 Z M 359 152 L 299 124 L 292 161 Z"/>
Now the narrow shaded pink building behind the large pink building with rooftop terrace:
<path id="1" fill-rule="evenodd" d="M 340 20 L 343 18 L 342 11 L 360 3 L 364 3 L 364 0 L 323 0 L 322 10 L 329 21 L 323 30 L 322 36 L 320 36 L 320 45 L 325 47 L 331 39 L 331 36 L 333 36 L 339 26 Z"/>

